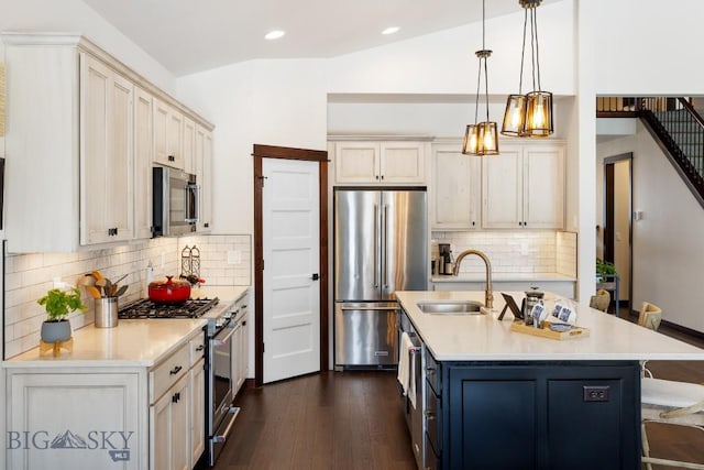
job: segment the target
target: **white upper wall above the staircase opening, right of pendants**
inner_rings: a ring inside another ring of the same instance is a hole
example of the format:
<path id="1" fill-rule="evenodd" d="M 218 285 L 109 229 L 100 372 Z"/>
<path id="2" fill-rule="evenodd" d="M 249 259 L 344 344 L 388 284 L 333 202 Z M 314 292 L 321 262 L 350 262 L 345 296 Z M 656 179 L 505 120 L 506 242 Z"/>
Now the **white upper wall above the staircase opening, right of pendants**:
<path id="1" fill-rule="evenodd" d="M 581 0 L 580 10 L 596 20 L 598 95 L 704 94 L 701 0 Z"/>

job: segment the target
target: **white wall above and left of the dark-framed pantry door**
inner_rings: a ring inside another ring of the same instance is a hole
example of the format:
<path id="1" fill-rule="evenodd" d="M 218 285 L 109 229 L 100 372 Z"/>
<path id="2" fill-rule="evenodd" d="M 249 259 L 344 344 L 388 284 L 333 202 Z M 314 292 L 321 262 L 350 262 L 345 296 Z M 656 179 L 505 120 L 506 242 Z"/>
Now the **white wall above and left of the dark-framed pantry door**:
<path id="1" fill-rule="evenodd" d="M 213 232 L 253 232 L 253 144 L 326 149 L 324 62 L 254 61 L 179 80 L 213 131 Z"/>

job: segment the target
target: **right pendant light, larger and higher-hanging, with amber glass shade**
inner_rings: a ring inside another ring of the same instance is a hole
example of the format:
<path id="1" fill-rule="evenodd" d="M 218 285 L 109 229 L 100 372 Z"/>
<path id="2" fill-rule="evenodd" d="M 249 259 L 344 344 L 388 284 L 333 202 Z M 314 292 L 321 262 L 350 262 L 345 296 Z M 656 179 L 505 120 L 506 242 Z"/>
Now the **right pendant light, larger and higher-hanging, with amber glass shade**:
<path id="1" fill-rule="evenodd" d="M 540 56 L 538 48 L 538 20 L 536 9 L 542 0 L 518 0 L 524 8 L 524 43 L 520 55 L 520 79 L 518 95 L 509 95 L 502 124 L 502 134 L 510 136 L 548 136 L 554 132 L 552 125 L 552 94 L 540 86 Z M 530 17 L 530 62 L 532 91 L 522 95 L 526 33 Z"/>

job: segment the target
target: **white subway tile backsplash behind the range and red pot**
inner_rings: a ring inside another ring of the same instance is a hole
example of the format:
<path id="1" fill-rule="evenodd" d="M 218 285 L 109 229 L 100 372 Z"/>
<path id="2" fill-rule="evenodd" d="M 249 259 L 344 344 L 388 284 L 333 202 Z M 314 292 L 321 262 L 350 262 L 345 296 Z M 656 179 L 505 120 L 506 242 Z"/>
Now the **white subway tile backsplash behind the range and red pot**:
<path id="1" fill-rule="evenodd" d="M 16 356 L 38 345 L 41 325 L 46 315 L 36 299 L 53 287 L 54 277 L 75 284 L 79 276 L 92 270 L 99 270 L 111 280 L 128 274 L 120 283 L 129 285 L 120 303 L 129 303 L 146 296 L 146 266 L 150 261 L 155 278 L 180 274 L 180 251 L 186 244 L 197 244 L 200 249 L 200 274 L 209 285 L 251 284 L 252 243 L 249 234 L 160 238 L 77 253 L 6 254 L 6 357 Z M 228 250 L 241 251 L 242 263 L 228 264 Z M 74 329 L 94 321 L 94 299 L 84 293 L 84 303 L 88 307 L 85 314 L 74 311 L 69 316 Z"/>

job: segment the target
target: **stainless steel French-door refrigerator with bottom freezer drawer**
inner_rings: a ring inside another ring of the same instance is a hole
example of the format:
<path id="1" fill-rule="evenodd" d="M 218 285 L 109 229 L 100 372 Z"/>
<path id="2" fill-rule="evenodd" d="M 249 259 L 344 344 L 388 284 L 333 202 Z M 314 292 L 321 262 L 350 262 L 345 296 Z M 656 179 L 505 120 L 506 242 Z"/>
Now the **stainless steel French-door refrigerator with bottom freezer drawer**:
<path id="1" fill-rule="evenodd" d="M 425 187 L 334 190 L 334 363 L 398 363 L 396 291 L 428 287 Z"/>

